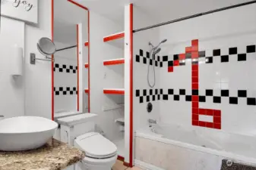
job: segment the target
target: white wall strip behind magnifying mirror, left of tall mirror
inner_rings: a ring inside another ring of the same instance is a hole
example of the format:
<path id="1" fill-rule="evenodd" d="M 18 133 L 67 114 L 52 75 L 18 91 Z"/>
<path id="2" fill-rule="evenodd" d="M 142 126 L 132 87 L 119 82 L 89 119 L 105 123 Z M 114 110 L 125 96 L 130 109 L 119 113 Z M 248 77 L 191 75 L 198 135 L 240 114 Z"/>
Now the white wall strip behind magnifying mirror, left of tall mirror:
<path id="1" fill-rule="evenodd" d="M 51 0 L 38 1 L 39 24 L 25 26 L 25 114 L 52 119 L 51 62 L 36 60 L 30 64 L 30 53 L 44 58 L 36 43 L 42 37 L 51 39 Z"/>

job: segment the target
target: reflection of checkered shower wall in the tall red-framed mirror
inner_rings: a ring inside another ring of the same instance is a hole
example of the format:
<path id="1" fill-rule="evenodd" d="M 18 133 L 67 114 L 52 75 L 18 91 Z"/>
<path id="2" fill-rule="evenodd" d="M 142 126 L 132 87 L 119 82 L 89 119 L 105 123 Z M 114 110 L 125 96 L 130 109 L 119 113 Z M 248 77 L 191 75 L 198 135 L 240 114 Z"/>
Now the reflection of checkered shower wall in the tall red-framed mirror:
<path id="1" fill-rule="evenodd" d="M 55 43 L 57 48 L 71 45 Z M 55 53 L 55 113 L 77 110 L 77 48 Z"/>

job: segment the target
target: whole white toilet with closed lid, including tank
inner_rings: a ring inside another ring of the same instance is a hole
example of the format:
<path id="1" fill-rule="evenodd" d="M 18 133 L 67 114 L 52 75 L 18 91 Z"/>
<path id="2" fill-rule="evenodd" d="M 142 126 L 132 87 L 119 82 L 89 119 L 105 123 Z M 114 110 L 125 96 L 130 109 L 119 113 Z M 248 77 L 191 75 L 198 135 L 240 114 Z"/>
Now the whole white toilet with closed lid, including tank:
<path id="1" fill-rule="evenodd" d="M 85 158 L 75 170 L 110 170 L 117 159 L 117 147 L 103 135 L 94 132 L 96 114 L 84 113 L 58 119 L 61 141 L 83 150 Z"/>

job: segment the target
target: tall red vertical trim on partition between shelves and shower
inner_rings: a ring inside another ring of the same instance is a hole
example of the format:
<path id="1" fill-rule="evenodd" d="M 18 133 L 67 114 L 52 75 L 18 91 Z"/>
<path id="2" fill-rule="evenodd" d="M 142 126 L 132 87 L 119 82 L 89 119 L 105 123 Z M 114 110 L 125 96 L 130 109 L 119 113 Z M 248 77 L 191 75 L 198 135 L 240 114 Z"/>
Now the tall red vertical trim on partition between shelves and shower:
<path id="1" fill-rule="evenodd" d="M 133 166 L 133 5 L 130 4 L 130 167 Z"/>

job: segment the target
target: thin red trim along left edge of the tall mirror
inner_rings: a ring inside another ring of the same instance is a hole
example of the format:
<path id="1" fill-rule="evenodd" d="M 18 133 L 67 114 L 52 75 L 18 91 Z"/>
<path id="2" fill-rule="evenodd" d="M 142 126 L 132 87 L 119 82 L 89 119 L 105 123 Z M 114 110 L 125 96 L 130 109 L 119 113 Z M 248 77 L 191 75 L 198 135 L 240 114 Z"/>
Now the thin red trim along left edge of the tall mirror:
<path id="1" fill-rule="evenodd" d="M 52 18 L 51 18 L 51 29 L 52 29 L 52 42 L 53 42 L 53 33 L 54 33 L 54 0 L 52 0 Z M 54 55 L 52 55 L 52 120 L 54 120 Z"/>

